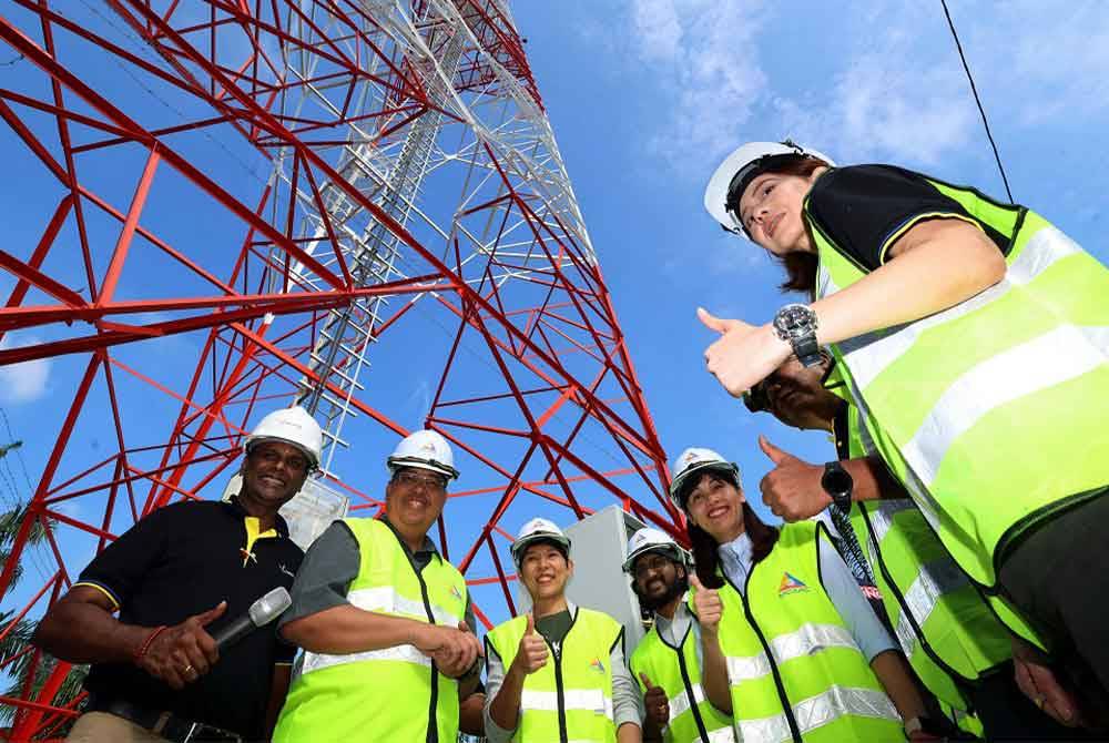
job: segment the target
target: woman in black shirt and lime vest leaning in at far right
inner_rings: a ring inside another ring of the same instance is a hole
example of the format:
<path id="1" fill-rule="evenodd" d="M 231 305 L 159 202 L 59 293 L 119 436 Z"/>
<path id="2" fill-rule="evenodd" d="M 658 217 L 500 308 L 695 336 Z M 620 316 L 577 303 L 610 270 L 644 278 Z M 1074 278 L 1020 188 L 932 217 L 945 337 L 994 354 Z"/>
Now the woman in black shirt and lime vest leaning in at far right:
<path id="1" fill-rule="evenodd" d="M 1019 610 L 1010 629 L 1031 639 L 1031 622 L 1109 689 L 1105 607 L 1088 600 L 1109 596 L 1109 271 L 1024 206 L 792 142 L 736 150 L 705 206 L 813 299 L 763 326 L 701 311 L 722 334 L 709 370 L 740 395 L 830 346 L 945 548 Z"/>

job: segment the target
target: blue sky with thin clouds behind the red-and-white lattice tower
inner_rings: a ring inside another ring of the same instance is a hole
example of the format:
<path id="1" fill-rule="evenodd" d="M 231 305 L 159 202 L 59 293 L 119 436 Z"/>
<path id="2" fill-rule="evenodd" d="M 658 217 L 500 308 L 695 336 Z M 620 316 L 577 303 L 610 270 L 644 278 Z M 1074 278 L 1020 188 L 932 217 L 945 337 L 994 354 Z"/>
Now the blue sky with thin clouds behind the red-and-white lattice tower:
<path id="1" fill-rule="evenodd" d="M 1109 226 L 1103 216 L 1103 174 L 1109 171 L 1105 6 L 1069 3 L 1067 12 L 1032 2 L 950 7 L 1014 196 L 1109 261 L 1103 236 Z M 88 12 L 73 7 L 74 17 Z M 696 322 L 696 306 L 765 322 L 787 298 L 774 288 L 779 269 L 704 213 L 702 187 L 719 160 L 740 143 L 792 136 L 841 163 L 893 162 L 1004 196 L 939 3 L 522 0 L 513 12 L 671 458 L 690 445 L 716 448 L 739 461 L 752 493 L 769 468 L 755 445 L 759 434 L 810 460 L 830 458 L 826 436 L 751 416 L 704 370 L 701 354 L 712 334 Z M 26 62 L 0 68 L 0 80 L 4 85 L 40 84 L 26 68 Z M 134 88 L 111 65 L 90 65 L 82 73 L 102 90 Z M 172 119 L 167 108 L 142 103 L 154 118 Z M 10 143 L 0 139 L 0 149 L 22 156 Z M 8 165 L 22 167 L 12 160 Z M 250 166 L 231 159 L 221 163 L 223 182 L 237 184 L 245 201 L 256 197 L 264 177 L 258 172 L 265 173 L 262 167 L 252 175 Z M 40 192 L 29 186 L 31 176 L 28 169 L 26 180 L 9 180 L 0 193 L 20 210 L 52 208 L 32 196 Z M 159 187 L 185 192 L 164 171 L 159 179 Z M 110 174 L 103 183 L 124 196 L 131 187 L 130 182 L 112 182 Z M 161 199 L 167 211 L 180 206 Z M 151 218 L 157 218 L 152 212 Z M 9 240 L 28 240 L 14 234 L 20 224 L 10 221 Z M 206 241 L 224 226 L 195 220 L 167 222 L 165 228 L 194 235 L 203 228 Z M 237 240 L 242 233 L 233 234 Z M 156 276 L 156 265 L 139 265 Z M 42 328 L 14 342 L 49 339 L 51 333 Z M 180 369 L 162 364 L 166 376 L 181 377 L 192 369 L 200 343 L 195 335 L 165 338 L 119 349 L 116 356 L 135 365 L 187 359 Z M 28 442 L 22 456 L 32 480 L 85 360 L 71 356 L 0 368 L 0 405 L 16 436 Z M 383 359 L 378 368 L 383 376 L 399 373 L 406 383 L 415 381 L 398 403 L 401 423 L 415 425 L 436 380 L 411 380 L 395 359 Z M 138 387 L 124 375 L 119 378 L 121 385 Z M 133 427 L 136 419 L 149 419 L 157 440 L 164 426 L 154 424 L 175 410 L 172 401 L 155 400 L 141 411 L 132 408 L 129 423 Z M 104 447 L 113 446 L 100 444 L 111 436 L 104 421 L 82 426 L 73 449 L 90 460 L 104 456 Z M 388 441 L 383 436 L 360 446 L 377 452 Z M 384 481 L 384 468 L 374 472 L 369 491 Z M 10 481 L 9 488 L 21 488 L 19 478 Z M 753 500 L 757 503 L 757 497 Z M 525 515 L 518 517 L 522 523 Z M 75 562 L 91 556 L 88 546 L 73 550 Z"/>

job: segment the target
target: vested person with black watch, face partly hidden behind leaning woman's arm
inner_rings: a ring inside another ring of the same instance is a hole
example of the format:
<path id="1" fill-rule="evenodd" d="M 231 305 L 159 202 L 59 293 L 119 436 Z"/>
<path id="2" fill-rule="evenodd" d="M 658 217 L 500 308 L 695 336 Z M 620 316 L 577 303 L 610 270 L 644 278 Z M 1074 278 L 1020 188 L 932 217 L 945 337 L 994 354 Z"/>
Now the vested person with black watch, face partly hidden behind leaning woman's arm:
<path id="1" fill-rule="evenodd" d="M 824 465 L 762 440 L 773 469 L 760 490 L 772 510 L 804 491 L 828 505 L 841 540 L 857 539 L 895 637 L 943 713 L 987 740 L 1074 739 L 1075 731 L 1044 714 L 1017 688 L 1009 633 L 901 484 L 872 456 L 869 434 L 843 397 L 831 355 L 822 352 L 812 367 L 786 360 L 752 387 L 744 404 L 786 426 L 834 436 L 836 460 Z M 875 493 L 878 498 L 866 498 Z M 863 499 L 853 501 L 855 496 Z"/>

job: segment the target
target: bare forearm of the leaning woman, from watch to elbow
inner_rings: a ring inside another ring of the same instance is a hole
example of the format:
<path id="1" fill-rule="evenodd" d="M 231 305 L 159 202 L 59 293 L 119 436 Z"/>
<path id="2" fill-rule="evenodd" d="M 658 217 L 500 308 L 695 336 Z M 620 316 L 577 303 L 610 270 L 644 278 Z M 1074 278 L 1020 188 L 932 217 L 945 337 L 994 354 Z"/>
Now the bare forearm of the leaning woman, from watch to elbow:
<path id="1" fill-rule="evenodd" d="M 950 221 L 948 221 L 950 222 Z M 1005 259 L 981 232 L 963 222 L 924 223 L 927 240 L 847 288 L 812 304 L 821 345 L 840 343 L 953 307 L 1005 276 Z M 969 232 L 968 232 L 969 231 Z"/>

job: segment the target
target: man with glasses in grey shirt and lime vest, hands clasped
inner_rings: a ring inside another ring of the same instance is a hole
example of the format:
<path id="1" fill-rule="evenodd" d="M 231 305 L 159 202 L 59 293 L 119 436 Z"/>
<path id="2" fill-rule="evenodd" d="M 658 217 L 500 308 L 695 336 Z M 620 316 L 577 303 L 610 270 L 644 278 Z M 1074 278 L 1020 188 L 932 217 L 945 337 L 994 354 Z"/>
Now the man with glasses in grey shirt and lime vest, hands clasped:
<path id="1" fill-rule="evenodd" d="M 406 437 L 377 519 L 309 548 L 281 632 L 305 649 L 274 740 L 455 743 L 481 647 L 466 580 L 427 537 L 458 477 L 447 440 Z"/>

